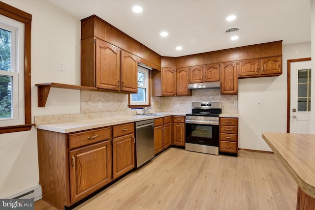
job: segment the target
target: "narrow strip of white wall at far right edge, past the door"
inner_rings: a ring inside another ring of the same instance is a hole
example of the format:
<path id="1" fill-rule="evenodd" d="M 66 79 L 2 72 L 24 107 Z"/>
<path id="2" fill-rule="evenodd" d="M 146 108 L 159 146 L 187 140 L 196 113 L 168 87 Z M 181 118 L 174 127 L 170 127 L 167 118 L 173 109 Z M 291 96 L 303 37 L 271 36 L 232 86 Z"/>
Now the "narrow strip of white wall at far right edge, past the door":
<path id="1" fill-rule="evenodd" d="M 313 98 L 313 102 L 311 102 L 311 133 L 315 134 L 315 0 L 311 0 L 311 43 L 312 43 L 312 89 L 311 89 L 311 98 Z"/>

